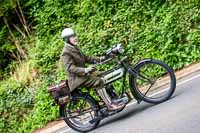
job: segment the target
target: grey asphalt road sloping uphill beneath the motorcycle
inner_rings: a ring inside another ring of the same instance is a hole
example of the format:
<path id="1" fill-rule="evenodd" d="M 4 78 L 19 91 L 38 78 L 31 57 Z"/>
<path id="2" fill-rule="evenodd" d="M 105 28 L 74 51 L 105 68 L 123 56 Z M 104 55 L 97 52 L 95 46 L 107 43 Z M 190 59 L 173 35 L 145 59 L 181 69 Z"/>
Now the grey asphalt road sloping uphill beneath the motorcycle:
<path id="1" fill-rule="evenodd" d="M 66 127 L 54 133 L 77 132 Z M 132 104 L 90 133 L 200 133 L 200 72 L 178 80 L 170 100 Z"/>

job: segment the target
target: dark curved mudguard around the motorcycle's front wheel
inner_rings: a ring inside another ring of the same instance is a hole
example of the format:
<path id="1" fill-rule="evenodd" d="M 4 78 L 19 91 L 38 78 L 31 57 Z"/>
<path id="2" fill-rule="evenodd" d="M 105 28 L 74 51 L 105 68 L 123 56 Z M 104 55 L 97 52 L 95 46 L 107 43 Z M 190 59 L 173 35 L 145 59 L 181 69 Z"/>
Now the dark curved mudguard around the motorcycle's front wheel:
<path id="1" fill-rule="evenodd" d="M 140 60 L 135 65 L 131 65 L 131 68 L 133 70 L 137 70 L 141 65 L 143 65 L 144 63 L 148 63 L 151 60 L 152 59 L 143 59 L 143 60 Z M 140 103 L 141 102 L 141 98 L 138 95 L 138 92 L 135 89 L 135 85 L 134 85 L 134 78 L 135 78 L 135 76 L 136 76 L 136 74 L 134 74 L 134 73 L 130 73 L 129 74 L 129 85 L 130 85 L 130 90 L 131 90 L 131 93 L 132 93 L 133 97 L 138 101 L 138 103 Z"/>

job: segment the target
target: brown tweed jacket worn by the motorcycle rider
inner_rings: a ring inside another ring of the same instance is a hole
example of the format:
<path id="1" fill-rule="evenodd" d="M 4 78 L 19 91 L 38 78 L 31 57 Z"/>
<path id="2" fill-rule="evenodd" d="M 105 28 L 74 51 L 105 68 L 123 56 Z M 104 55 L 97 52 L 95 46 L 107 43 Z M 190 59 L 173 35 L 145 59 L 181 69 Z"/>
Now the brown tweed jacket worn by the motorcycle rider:
<path id="1" fill-rule="evenodd" d="M 61 61 L 65 67 L 70 91 L 78 88 L 89 76 L 85 73 L 85 63 L 99 62 L 101 57 L 89 57 L 80 49 L 70 44 L 65 44 L 61 53 Z"/>

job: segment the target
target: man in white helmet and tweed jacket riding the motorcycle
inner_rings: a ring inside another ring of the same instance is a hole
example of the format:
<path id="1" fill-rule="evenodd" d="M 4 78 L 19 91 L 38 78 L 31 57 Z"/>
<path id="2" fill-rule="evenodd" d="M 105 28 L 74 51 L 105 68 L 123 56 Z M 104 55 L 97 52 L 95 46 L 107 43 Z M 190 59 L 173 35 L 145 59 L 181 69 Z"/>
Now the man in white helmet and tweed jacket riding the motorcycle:
<path id="1" fill-rule="evenodd" d="M 104 81 L 92 74 L 96 70 L 95 67 L 85 67 L 85 63 L 101 62 L 106 59 L 106 56 L 89 57 L 83 54 L 78 48 L 78 37 L 71 28 L 65 28 L 61 37 L 64 40 L 61 61 L 68 76 L 70 91 L 80 87 L 95 88 L 110 111 L 122 108 L 124 105 L 112 102 L 104 88 Z"/>

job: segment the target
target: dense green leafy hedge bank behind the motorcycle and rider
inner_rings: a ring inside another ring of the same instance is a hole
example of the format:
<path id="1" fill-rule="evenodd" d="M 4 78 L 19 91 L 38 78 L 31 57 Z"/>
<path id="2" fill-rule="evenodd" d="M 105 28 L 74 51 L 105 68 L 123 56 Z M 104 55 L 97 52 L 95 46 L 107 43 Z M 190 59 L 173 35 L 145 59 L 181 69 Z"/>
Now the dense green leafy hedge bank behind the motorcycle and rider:
<path id="1" fill-rule="evenodd" d="M 133 63 L 155 58 L 177 70 L 200 61 L 198 0 L 2 0 L 0 132 L 32 132 L 58 117 L 47 87 L 66 78 L 65 27 L 88 55 L 121 42 Z"/>

